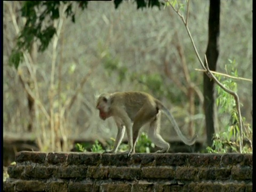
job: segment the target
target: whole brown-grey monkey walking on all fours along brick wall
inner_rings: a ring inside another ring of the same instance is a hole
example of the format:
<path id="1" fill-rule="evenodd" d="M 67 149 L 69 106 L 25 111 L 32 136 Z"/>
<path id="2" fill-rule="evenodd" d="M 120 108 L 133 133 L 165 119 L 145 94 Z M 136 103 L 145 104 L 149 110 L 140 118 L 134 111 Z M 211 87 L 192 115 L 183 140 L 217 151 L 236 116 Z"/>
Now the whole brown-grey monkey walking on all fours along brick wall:
<path id="1" fill-rule="evenodd" d="M 187 139 L 163 103 L 146 92 L 102 93 L 98 97 L 96 108 L 99 109 L 99 116 L 103 121 L 113 117 L 118 129 L 113 150 L 105 151 L 104 153 L 117 152 L 124 137 L 125 129 L 129 146 L 129 150 L 125 151 L 125 154 L 130 156 L 132 153 L 135 153 L 139 131 L 146 123 L 149 123 L 149 138 L 156 146 L 162 148 L 157 150 L 156 153 L 166 153 L 170 145 L 159 134 L 161 111 L 167 116 L 175 131 L 186 145 L 193 145 L 198 138 L 197 134 L 195 134 L 193 138 Z"/>

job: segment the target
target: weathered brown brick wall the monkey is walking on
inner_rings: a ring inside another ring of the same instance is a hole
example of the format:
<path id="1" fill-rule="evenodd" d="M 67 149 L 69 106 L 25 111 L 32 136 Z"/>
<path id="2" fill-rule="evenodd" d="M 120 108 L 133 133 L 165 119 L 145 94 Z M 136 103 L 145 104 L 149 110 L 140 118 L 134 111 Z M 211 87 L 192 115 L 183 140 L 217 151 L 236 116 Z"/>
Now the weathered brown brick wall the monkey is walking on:
<path id="1" fill-rule="evenodd" d="M 252 191 L 252 154 L 21 151 L 5 191 Z"/>

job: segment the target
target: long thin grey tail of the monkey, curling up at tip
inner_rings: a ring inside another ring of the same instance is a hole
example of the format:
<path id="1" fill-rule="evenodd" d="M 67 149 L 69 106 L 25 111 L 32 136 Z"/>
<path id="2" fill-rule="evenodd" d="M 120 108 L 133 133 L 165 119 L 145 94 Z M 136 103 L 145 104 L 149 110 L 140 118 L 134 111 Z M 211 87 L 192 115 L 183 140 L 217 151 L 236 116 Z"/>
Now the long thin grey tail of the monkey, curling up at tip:
<path id="1" fill-rule="evenodd" d="M 172 116 L 172 114 L 170 113 L 170 111 L 163 106 L 163 104 L 160 101 L 156 101 L 157 106 L 159 109 L 162 109 L 162 111 L 164 112 L 164 114 L 167 116 L 167 118 L 169 119 L 169 121 L 172 123 L 172 125 L 174 126 L 175 131 L 177 132 L 177 134 L 179 135 L 180 139 L 186 144 L 186 145 L 193 145 L 196 142 L 196 139 L 198 138 L 198 135 L 195 134 L 193 136 L 193 138 L 191 139 L 187 139 L 182 132 L 180 131 L 180 128 L 178 126 L 178 124 L 176 123 L 174 117 Z"/>

